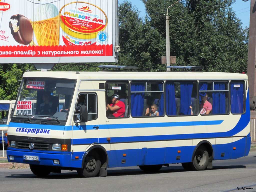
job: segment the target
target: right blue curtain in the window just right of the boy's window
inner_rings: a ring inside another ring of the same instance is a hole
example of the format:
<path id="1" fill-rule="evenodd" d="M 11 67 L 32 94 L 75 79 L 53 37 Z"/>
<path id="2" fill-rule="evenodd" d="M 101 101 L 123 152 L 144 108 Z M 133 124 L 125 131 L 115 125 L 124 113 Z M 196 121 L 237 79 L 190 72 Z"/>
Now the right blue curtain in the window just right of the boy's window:
<path id="1" fill-rule="evenodd" d="M 193 89 L 193 82 L 180 82 L 180 114 L 191 115 L 191 95 Z"/>

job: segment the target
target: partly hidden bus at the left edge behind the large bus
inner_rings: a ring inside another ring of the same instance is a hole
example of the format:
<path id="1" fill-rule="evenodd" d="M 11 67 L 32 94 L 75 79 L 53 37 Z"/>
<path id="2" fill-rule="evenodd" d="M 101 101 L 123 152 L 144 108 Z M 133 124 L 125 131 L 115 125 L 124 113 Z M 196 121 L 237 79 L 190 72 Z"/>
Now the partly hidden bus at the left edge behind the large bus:
<path id="1" fill-rule="evenodd" d="M 0 101 L 0 140 L 1 144 L 7 146 L 7 130 L 10 122 L 12 110 L 14 108 L 15 100 Z"/>

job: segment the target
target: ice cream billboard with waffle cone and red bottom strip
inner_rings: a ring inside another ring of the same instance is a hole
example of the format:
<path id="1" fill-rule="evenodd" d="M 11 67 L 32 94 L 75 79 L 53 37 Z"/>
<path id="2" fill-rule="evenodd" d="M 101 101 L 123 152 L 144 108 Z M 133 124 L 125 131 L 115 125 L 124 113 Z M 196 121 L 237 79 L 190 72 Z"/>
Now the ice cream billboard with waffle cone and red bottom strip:
<path id="1" fill-rule="evenodd" d="M 118 62 L 117 0 L 0 0 L 0 63 Z"/>

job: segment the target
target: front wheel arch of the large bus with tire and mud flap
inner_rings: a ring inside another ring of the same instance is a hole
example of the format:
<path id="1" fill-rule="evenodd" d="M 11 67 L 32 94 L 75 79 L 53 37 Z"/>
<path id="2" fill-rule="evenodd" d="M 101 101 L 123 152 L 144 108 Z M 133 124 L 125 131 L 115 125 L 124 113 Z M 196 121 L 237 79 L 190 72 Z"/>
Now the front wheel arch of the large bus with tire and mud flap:
<path id="1" fill-rule="evenodd" d="M 94 168 L 94 166 L 99 166 L 99 167 L 95 167 L 96 170 L 95 170 L 95 173 L 93 174 L 90 174 L 90 173 L 87 174 L 86 172 L 84 172 L 85 171 L 84 169 L 86 168 L 85 166 L 89 165 L 88 161 L 90 161 L 90 164 L 92 166 L 91 168 Z M 83 177 L 95 177 L 97 175 L 105 177 L 107 176 L 107 165 L 108 165 L 108 153 L 106 152 L 105 148 L 100 145 L 94 145 L 90 147 L 84 154 L 81 169 L 78 169 L 77 172 L 80 176 L 83 176 Z"/>

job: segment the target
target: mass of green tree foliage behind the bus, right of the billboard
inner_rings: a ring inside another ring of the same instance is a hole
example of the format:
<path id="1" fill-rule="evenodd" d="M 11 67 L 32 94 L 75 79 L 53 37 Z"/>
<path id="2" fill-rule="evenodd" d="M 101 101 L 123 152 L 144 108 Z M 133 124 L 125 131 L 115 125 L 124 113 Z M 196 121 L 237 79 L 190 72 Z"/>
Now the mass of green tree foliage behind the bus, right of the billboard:
<path id="1" fill-rule="evenodd" d="M 119 6 L 119 64 L 140 71 L 163 71 L 166 55 L 167 8 L 176 0 L 142 0 L 146 18 L 136 7 Z M 243 30 L 231 5 L 234 0 L 185 0 L 168 9 L 170 55 L 177 65 L 202 66 L 205 71 L 246 72 L 248 29 Z"/>

